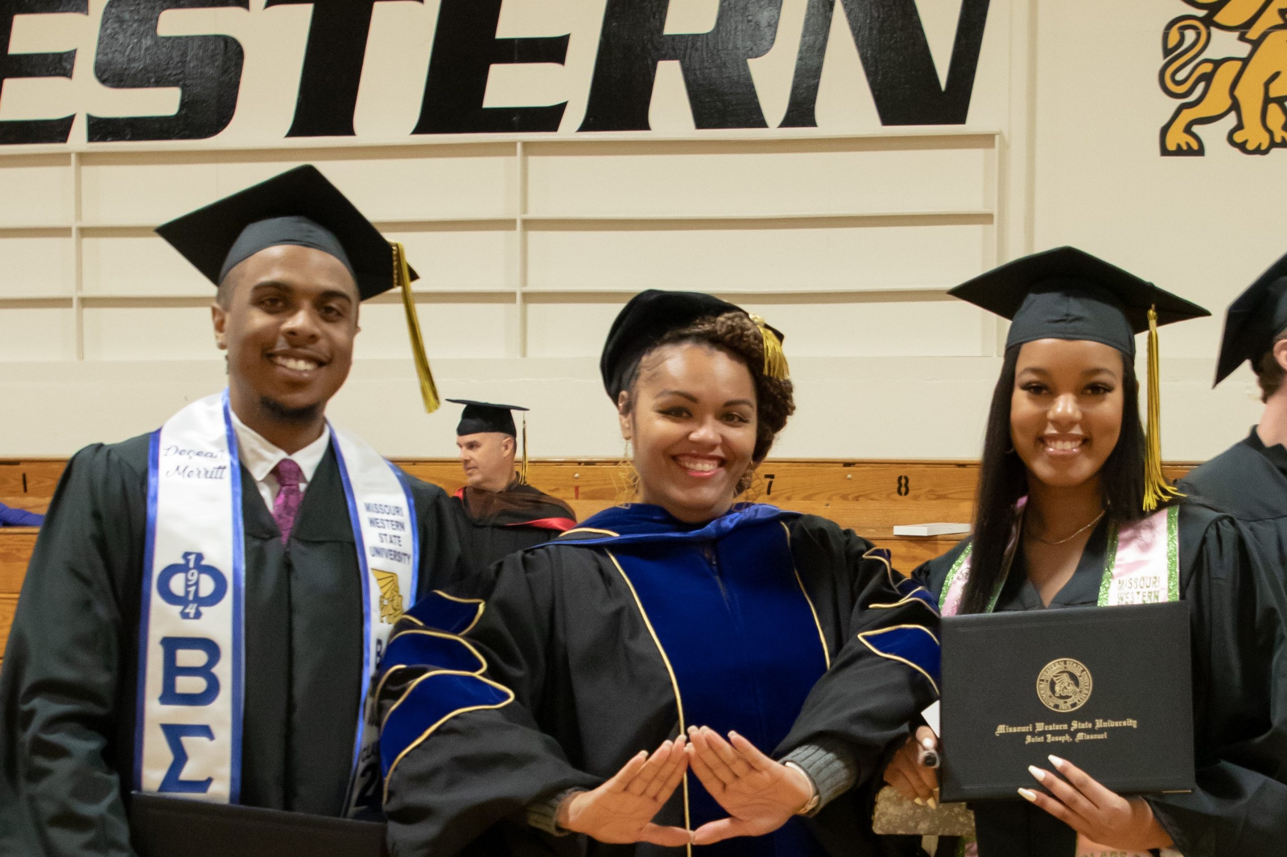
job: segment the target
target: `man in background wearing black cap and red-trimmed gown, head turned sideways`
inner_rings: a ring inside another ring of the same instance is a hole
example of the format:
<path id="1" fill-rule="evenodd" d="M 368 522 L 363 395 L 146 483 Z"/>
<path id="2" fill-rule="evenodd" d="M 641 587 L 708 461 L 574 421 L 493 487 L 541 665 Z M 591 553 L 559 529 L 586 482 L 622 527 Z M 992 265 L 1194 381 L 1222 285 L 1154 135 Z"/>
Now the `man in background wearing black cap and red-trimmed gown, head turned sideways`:
<path id="1" fill-rule="evenodd" d="M 515 551 L 557 537 L 577 525 L 571 508 L 528 484 L 526 423 L 523 468 L 515 475 L 519 405 L 448 399 L 465 405 L 456 426 L 466 485 L 456 492 L 461 515 L 462 549 L 477 567 L 490 567 Z"/>

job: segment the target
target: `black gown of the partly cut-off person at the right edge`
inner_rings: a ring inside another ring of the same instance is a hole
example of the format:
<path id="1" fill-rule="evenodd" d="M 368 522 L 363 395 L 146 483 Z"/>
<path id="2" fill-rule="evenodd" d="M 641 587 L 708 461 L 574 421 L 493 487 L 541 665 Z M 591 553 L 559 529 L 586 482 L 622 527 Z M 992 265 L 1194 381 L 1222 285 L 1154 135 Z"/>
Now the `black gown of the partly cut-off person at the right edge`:
<path id="1" fill-rule="evenodd" d="M 1287 449 L 1265 447 L 1252 428 L 1192 470 L 1180 489 L 1238 519 L 1261 565 L 1287 587 Z"/>

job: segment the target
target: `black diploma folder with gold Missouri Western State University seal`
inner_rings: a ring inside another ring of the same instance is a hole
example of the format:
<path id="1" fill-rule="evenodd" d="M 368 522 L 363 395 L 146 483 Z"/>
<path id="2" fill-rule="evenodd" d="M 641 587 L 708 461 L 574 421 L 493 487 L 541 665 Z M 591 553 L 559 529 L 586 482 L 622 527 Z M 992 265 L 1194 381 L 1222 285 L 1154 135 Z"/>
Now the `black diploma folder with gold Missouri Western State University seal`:
<path id="1" fill-rule="evenodd" d="M 1189 791 L 1189 605 L 943 616 L 943 802 L 1022 799 L 1057 755 L 1118 794 Z"/>

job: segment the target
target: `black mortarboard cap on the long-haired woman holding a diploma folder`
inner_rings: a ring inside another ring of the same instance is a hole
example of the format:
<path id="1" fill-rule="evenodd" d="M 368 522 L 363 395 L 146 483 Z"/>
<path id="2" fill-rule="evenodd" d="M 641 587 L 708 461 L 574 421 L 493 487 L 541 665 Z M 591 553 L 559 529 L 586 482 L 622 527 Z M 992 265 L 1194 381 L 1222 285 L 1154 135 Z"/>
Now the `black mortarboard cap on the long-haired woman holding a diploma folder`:
<path id="1" fill-rule="evenodd" d="M 1135 356 L 1135 335 L 1157 324 L 1210 315 L 1197 304 L 1076 247 L 1015 259 L 949 295 L 1012 319 L 1005 346 L 1033 340 L 1090 340 Z"/>

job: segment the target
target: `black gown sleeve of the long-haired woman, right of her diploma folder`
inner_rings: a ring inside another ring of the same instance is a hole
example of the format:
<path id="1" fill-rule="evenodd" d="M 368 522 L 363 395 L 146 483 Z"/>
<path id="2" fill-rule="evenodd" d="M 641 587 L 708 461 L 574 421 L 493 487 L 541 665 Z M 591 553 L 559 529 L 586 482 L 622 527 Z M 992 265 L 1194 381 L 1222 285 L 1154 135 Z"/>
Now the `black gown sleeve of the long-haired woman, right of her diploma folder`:
<path id="1" fill-rule="evenodd" d="M 1184 535 L 1181 525 L 1181 546 Z M 1273 571 L 1221 517 L 1184 584 L 1198 788 L 1149 803 L 1185 857 L 1277 857 L 1287 843 L 1287 642 Z"/>

